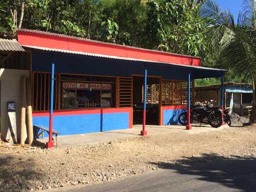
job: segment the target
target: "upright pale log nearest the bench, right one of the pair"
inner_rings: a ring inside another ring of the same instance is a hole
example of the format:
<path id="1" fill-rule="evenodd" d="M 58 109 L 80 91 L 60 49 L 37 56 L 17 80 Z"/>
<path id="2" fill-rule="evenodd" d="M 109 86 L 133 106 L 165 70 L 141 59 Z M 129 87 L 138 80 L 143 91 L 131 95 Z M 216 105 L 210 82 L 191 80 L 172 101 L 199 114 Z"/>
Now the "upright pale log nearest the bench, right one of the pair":
<path id="1" fill-rule="evenodd" d="M 31 81 L 30 81 L 31 82 Z M 26 78 L 26 89 L 27 89 L 27 107 L 26 107 L 26 114 L 27 114 L 27 142 L 29 145 L 33 142 L 33 123 L 32 123 L 32 102 L 31 102 L 31 89 L 29 78 Z"/>

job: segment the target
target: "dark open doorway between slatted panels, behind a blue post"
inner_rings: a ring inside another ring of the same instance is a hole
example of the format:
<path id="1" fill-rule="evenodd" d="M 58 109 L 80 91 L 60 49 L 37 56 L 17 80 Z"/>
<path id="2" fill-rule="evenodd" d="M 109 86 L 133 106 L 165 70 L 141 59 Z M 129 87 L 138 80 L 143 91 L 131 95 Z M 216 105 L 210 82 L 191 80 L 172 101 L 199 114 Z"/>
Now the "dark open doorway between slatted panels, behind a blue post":
<path id="1" fill-rule="evenodd" d="M 159 81 L 157 77 L 147 77 L 146 124 L 159 124 Z M 133 76 L 133 124 L 142 124 L 144 77 Z"/>

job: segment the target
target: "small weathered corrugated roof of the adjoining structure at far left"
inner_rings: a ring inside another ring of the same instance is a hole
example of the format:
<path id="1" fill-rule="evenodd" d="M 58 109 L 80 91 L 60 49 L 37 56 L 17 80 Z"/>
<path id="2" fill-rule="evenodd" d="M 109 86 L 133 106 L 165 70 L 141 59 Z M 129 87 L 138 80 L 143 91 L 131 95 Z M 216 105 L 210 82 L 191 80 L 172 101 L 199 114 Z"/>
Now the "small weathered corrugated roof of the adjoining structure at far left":
<path id="1" fill-rule="evenodd" d="M 14 39 L 0 38 L 0 51 L 25 51 L 18 41 Z"/>

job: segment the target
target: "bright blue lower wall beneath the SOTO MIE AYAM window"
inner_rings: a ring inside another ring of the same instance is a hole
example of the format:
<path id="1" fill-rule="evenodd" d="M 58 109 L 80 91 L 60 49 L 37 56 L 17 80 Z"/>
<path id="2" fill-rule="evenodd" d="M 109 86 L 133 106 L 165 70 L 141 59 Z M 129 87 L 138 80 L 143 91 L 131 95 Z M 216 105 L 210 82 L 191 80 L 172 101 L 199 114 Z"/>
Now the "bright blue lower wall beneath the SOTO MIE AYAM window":
<path id="1" fill-rule="evenodd" d="M 42 125 L 48 128 L 49 116 L 34 116 L 33 125 Z M 61 132 L 59 135 L 125 129 L 128 127 L 128 112 L 53 116 L 53 129 Z M 44 136 L 47 137 L 47 133 Z"/>

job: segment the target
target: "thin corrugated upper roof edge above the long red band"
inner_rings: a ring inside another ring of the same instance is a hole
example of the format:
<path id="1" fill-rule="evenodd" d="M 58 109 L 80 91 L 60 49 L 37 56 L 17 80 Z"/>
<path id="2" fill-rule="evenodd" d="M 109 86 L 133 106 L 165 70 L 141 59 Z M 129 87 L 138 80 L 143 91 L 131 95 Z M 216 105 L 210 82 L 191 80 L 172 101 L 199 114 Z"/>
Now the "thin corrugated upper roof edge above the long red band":
<path id="1" fill-rule="evenodd" d="M 160 51 L 160 50 L 152 50 L 152 49 L 146 49 L 146 48 L 139 48 L 139 47 L 135 47 L 135 46 L 115 44 L 115 43 L 110 43 L 110 42 L 102 42 L 102 41 L 98 41 L 98 40 L 92 40 L 92 39 L 88 39 L 88 38 L 81 38 L 81 37 L 77 37 L 77 36 L 70 36 L 70 35 L 59 34 L 59 33 L 54 33 L 54 32 L 46 32 L 46 31 L 24 29 L 24 28 L 19 29 L 18 31 L 33 32 L 33 33 L 37 33 L 37 34 L 45 34 L 45 35 L 50 35 L 50 36 L 58 36 L 58 37 L 64 37 L 64 38 L 69 38 L 69 39 L 76 39 L 76 40 L 82 40 L 82 41 L 87 41 L 87 42 L 95 42 L 95 43 L 100 43 L 100 44 L 104 44 L 104 45 L 126 47 L 126 48 L 137 49 L 137 50 L 152 51 L 152 52 L 158 52 L 158 53 L 162 53 L 162 54 L 185 56 L 185 57 L 189 57 L 189 58 L 199 58 L 199 59 L 201 58 L 201 57 L 189 56 L 189 55 L 185 55 L 185 54 L 177 54 L 177 53 L 165 52 L 165 51 Z"/>

